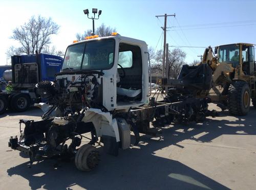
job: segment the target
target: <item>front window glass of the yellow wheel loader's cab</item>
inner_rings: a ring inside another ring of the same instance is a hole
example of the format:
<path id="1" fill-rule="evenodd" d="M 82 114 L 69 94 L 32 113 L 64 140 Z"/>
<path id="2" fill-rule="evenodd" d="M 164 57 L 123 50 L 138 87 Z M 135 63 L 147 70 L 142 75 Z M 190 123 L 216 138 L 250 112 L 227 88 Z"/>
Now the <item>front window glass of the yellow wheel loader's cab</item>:
<path id="1" fill-rule="evenodd" d="M 230 44 L 220 46 L 219 62 L 239 64 L 239 45 Z"/>

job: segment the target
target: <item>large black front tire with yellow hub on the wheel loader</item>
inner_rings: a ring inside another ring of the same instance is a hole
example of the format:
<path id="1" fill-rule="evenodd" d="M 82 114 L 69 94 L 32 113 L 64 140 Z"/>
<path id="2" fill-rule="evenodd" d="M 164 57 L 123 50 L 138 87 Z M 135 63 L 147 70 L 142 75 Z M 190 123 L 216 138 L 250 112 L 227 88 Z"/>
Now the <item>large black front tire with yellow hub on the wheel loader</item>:
<path id="1" fill-rule="evenodd" d="M 250 110 L 250 88 L 246 82 L 237 81 L 228 88 L 228 110 L 234 116 L 245 116 Z"/>

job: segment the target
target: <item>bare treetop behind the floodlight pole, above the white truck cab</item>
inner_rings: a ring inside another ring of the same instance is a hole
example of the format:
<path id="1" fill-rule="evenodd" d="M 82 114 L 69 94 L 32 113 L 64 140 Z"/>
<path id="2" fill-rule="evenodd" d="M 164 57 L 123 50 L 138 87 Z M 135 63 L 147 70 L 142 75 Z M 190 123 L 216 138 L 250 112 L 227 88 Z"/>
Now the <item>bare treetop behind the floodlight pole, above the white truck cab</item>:
<path id="1" fill-rule="evenodd" d="M 92 30 L 84 31 L 83 34 L 76 34 L 76 38 L 78 41 L 84 40 L 85 37 L 91 36 Z M 111 28 L 110 26 L 106 26 L 104 23 L 102 23 L 96 30 L 95 35 L 99 35 L 99 37 L 104 36 L 111 36 L 113 32 L 116 32 L 115 28 Z"/>

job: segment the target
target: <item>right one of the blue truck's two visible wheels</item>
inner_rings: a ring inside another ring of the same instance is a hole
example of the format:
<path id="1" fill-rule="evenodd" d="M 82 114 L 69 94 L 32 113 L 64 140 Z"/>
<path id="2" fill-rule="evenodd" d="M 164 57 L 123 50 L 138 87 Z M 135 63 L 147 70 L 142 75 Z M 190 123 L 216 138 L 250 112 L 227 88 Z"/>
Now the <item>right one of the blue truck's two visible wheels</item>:
<path id="1" fill-rule="evenodd" d="M 24 112 L 30 106 L 30 97 L 27 94 L 19 93 L 11 98 L 11 108 L 15 112 Z"/>

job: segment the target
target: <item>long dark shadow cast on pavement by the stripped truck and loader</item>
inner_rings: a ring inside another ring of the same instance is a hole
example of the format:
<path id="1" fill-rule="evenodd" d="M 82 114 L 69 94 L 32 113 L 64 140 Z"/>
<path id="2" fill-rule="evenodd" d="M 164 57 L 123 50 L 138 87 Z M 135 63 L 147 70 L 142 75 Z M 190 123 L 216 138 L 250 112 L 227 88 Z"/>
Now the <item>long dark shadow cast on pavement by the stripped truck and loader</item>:
<path id="1" fill-rule="evenodd" d="M 223 112 L 222 116 L 227 114 Z M 247 116 L 236 117 L 236 121 L 207 118 L 203 124 L 163 128 L 160 141 L 143 135 L 137 147 L 120 150 L 117 157 L 101 153 L 99 167 L 91 172 L 78 171 L 73 162 L 60 162 L 60 166 L 54 168 L 56 161 L 44 160 L 32 168 L 28 168 L 26 162 L 8 169 L 7 173 L 26 178 L 31 189 L 72 189 L 73 185 L 87 189 L 228 189 L 181 162 L 156 156 L 154 152 L 170 145 L 182 148 L 177 143 L 183 140 L 211 142 L 222 134 L 241 135 L 238 131 L 244 135 L 256 134 L 252 117 L 255 114 L 256 111 L 251 110 Z M 183 132 L 178 129 L 183 129 Z M 202 132 L 207 133 L 194 138 Z"/>

